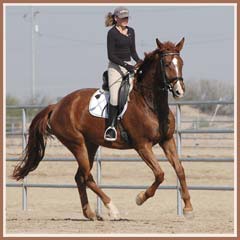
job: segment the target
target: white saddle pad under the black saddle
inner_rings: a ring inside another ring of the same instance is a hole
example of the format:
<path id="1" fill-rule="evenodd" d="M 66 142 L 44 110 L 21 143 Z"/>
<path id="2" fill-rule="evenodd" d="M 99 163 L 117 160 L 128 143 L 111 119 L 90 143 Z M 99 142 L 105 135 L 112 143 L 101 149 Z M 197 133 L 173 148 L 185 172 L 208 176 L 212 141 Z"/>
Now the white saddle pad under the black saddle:
<path id="1" fill-rule="evenodd" d="M 108 118 L 107 103 L 109 101 L 109 92 L 103 89 L 98 89 L 91 97 L 89 103 L 89 112 L 95 117 Z M 128 101 L 126 102 L 123 111 L 118 115 L 122 118 L 127 110 Z"/>

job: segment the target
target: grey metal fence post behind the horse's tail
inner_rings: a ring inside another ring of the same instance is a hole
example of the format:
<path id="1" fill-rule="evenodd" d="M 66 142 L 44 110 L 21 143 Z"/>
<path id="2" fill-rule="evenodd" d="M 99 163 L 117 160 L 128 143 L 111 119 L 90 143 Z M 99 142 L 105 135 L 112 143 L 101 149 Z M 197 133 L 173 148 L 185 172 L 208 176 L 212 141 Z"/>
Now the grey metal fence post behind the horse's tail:
<path id="1" fill-rule="evenodd" d="M 25 150 L 26 147 L 26 109 L 22 109 L 22 149 Z M 27 177 L 23 179 L 22 185 L 22 209 L 27 210 Z"/>

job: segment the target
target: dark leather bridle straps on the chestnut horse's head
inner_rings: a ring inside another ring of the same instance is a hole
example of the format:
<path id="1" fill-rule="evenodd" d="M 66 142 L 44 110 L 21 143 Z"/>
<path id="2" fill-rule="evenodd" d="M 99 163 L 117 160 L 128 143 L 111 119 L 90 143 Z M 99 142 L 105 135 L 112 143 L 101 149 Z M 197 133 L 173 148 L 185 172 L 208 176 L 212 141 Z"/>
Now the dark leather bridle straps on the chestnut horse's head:
<path id="1" fill-rule="evenodd" d="M 165 56 L 169 56 L 169 55 L 180 55 L 179 53 L 162 53 L 160 54 L 160 66 L 161 66 L 161 73 L 162 73 L 162 79 L 163 79 L 163 88 L 159 88 L 161 91 L 171 91 L 173 90 L 173 85 L 171 82 L 173 81 L 183 81 L 182 77 L 174 77 L 169 79 L 166 75 L 166 71 L 165 71 L 165 64 L 163 61 L 163 57 Z"/>

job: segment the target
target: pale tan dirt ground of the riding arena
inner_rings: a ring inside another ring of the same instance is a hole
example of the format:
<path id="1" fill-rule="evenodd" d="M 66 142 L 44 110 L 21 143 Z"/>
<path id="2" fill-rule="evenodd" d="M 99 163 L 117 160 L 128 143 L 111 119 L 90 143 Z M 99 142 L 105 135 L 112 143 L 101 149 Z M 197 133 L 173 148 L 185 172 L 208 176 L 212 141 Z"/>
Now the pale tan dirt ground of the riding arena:
<path id="1" fill-rule="evenodd" d="M 185 111 L 189 118 L 196 116 L 193 109 Z M 199 115 L 199 118 L 210 118 Z M 221 118 L 221 117 L 220 117 Z M 221 120 L 224 120 L 221 118 Z M 226 119 L 228 120 L 228 119 Z M 192 123 L 185 123 L 184 128 Z M 226 123 L 228 124 L 228 123 Z M 211 126 L 210 126 L 211 127 Z M 217 126 L 214 126 L 215 128 Z M 221 128 L 221 126 L 219 126 Z M 223 127 L 232 127 L 223 126 Z M 233 134 L 191 134 L 183 138 L 182 157 L 229 157 L 233 158 Z M 217 137 L 217 138 L 216 138 Z M 159 146 L 154 147 L 156 156 L 163 156 Z M 7 138 L 7 157 L 19 157 L 21 138 Z M 136 157 L 133 150 L 109 150 L 102 148 L 101 156 Z M 48 142 L 46 157 L 72 157 L 58 141 Z M 14 182 L 9 176 L 15 162 L 6 163 L 6 182 Z M 176 174 L 168 162 L 160 163 L 165 172 L 166 185 L 176 185 Z M 234 164 L 223 162 L 183 162 L 189 186 L 234 185 Z M 46 162 L 32 172 L 28 183 L 74 184 L 76 162 Z M 96 176 L 96 164 L 93 167 Z M 95 178 L 96 179 L 96 178 Z M 153 182 L 151 170 L 140 162 L 103 162 L 102 184 L 144 185 Z M 6 188 L 7 234 L 231 234 L 234 233 L 234 192 L 190 190 L 194 217 L 177 215 L 176 190 L 158 190 L 155 196 L 142 206 L 135 203 L 141 190 L 104 189 L 121 213 L 120 221 L 111 221 L 103 207 L 104 221 L 88 221 L 82 214 L 76 188 L 28 188 L 28 210 L 22 210 L 22 189 Z M 88 190 L 92 209 L 97 198 Z"/>

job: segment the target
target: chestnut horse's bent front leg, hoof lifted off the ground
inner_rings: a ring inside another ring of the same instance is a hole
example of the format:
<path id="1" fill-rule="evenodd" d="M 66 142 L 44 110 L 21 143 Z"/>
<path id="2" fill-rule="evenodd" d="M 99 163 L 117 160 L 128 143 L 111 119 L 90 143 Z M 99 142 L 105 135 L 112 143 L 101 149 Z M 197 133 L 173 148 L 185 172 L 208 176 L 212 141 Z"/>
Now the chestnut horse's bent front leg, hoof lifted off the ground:
<path id="1" fill-rule="evenodd" d="M 163 182 L 164 180 L 164 172 L 162 171 L 160 165 L 158 164 L 158 161 L 156 157 L 154 156 L 152 152 L 152 144 L 144 144 L 141 147 L 138 147 L 136 149 L 140 157 L 144 160 L 144 162 L 152 169 L 153 174 L 155 176 L 155 181 L 153 184 L 144 192 L 140 192 L 137 195 L 136 203 L 137 205 L 142 205 L 148 198 L 152 197 L 158 186 Z"/>

